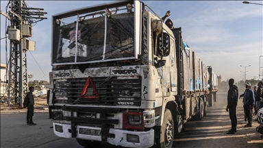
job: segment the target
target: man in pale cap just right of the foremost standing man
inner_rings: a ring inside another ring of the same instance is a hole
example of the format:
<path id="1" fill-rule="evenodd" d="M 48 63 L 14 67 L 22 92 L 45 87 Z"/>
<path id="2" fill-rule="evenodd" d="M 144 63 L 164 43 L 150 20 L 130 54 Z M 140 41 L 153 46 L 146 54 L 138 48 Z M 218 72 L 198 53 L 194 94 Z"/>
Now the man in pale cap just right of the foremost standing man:
<path id="1" fill-rule="evenodd" d="M 247 116 L 247 121 L 248 121 L 245 127 L 252 127 L 252 109 L 255 103 L 255 97 L 254 97 L 253 90 L 251 90 L 251 84 L 247 82 L 245 86 L 246 86 L 246 90 L 244 93 L 243 103 L 244 103 L 245 114 Z"/>

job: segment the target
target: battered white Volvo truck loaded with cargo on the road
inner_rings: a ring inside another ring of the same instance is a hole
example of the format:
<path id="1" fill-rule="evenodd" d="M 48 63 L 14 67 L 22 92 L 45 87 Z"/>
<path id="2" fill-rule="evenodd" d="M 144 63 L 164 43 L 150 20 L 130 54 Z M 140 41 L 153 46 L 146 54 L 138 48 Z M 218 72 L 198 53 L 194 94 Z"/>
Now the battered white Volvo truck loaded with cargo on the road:
<path id="1" fill-rule="evenodd" d="M 212 67 L 141 1 L 54 15 L 51 53 L 53 132 L 84 147 L 172 147 L 216 100 Z"/>

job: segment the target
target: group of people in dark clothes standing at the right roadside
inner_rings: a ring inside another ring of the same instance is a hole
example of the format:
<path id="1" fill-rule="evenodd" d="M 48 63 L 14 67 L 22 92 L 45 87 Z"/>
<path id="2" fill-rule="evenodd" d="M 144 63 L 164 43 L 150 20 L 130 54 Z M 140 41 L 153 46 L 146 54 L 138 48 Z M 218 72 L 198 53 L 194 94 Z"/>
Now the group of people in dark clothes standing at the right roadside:
<path id="1" fill-rule="evenodd" d="M 229 118 L 231 119 L 231 129 L 227 134 L 235 134 L 237 118 L 236 118 L 236 106 L 238 105 L 238 86 L 234 84 L 234 79 L 229 79 L 229 90 L 227 92 L 227 108 L 226 111 L 229 112 Z M 258 89 L 256 87 L 254 90 L 251 89 L 251 84 L 247 82 L 245 84 L 245 92 L 239 96 L 243 97 L 243 107 L 245 113 L 245 121 L 241 123 L 247 123 L 245 127 L 252 127 L 252 112 L 253 108 L 255 110 L 254 114 L 257 114 L 258 110 L 263 107 L 263 83 L 258 82 Z"/>

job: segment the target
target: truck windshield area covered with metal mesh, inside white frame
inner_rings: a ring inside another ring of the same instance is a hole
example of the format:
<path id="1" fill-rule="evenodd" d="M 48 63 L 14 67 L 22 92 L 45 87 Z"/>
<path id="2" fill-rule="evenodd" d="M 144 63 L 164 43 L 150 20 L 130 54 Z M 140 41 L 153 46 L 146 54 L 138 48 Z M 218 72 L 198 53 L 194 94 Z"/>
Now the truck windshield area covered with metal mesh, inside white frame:
<path id="1" fill-rule="evenodd" d="M 61 18 L 55 27 L 60 35 L 53 39 L 53 63 L 134 58 L 133 9 L 121 6 Z"/>

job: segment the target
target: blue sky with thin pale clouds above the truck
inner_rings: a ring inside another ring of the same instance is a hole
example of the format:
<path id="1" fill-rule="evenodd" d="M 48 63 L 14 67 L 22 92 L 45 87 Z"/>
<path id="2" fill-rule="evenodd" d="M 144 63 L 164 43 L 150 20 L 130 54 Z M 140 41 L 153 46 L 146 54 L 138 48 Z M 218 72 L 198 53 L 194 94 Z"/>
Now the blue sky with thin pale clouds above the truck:
<path id="1" fill-rule="evenodd" d="M 33 27 L 32 38 L 36 51 L 27 51 L 27 74 L 32 80 L 49 81 L 51 72 L 52 16 L 77 8 L 84 8 L 112 1 L 26 1 L 29 8 L 44 8 L 47 19 Z M 160 17 L 167 10 L 175 27 L 181 27 L 188 46 L 207 66 L 212 66 L 223 81 L 234 78 L 235 82 L 259 79 L 260 61 L 263 63 L 263 1 L 143 1 Z M 8 1 L 1 0 L 1 11 L 6 12 Z M 10 10 L 10 9 L 8 9 Z M 9 22 L 9 21 L 8 21 Z M 5 16 L 1 15 L 1 38 L 5 38 Z M 5 57 L 5 39 L 1 39 L 1 64 Z M 249 66 L 251 65 L 251 66 Z M 247 68 L 245 68 L 247 66 Z M 2 75 L 2 73 L 1 73 Z"/>

